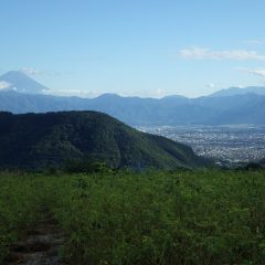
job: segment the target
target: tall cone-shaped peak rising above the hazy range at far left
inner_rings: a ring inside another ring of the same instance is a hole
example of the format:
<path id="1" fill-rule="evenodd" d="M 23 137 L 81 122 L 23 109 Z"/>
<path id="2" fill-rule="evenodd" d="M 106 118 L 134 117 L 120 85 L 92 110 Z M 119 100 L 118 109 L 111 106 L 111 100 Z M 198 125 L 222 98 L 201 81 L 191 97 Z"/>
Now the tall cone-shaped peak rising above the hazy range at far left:
<path id="1" fill-rule="evenodd" d="M 20 71 L 10 71 L 0 76 L 0 82 L 8 84 L 7 89 L 19 93 L 42 94 L 47 88 Z"/>

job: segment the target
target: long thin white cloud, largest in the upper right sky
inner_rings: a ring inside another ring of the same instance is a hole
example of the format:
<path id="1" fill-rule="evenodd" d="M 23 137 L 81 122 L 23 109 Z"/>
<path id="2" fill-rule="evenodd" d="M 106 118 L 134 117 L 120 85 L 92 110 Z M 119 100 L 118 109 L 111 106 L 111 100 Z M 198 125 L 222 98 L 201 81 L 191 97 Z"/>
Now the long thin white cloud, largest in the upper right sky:
<path id="1" fill-rule="evenodd" d="M 265 54 L 256 51 L 246 50 L 230 50 L 230 51 L 211 51 L 204 47 L 191 47 L 180 51 L 180 56 L 183 59 L 193 60 L 237 60 L 237 61 L 265 61 Z"/>

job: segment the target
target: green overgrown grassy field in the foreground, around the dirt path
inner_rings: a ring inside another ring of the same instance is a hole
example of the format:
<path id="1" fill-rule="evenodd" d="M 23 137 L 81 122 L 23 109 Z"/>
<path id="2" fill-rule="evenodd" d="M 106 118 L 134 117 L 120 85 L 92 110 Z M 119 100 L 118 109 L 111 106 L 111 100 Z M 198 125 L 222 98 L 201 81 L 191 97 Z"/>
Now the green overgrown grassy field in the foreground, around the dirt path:
<path id="1" fill-rule="evenodd" d="M 67 264 L 265 264 L 265 172 L 2 172 L 0 264 L 43 205 Z"/>

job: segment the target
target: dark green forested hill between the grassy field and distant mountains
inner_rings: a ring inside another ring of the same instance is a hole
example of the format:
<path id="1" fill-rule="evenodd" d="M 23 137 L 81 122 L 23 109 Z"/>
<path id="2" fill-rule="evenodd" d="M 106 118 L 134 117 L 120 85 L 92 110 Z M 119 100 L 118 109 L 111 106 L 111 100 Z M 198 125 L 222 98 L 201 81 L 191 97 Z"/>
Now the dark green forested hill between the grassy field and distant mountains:
<path id="1" fill-rule="evenodd" d="M 95 159 L 110 167 L 195 168 L 209 161 L 191 148 L 96 112 L 0 113 L 0 167 L 42 168 Z"/>

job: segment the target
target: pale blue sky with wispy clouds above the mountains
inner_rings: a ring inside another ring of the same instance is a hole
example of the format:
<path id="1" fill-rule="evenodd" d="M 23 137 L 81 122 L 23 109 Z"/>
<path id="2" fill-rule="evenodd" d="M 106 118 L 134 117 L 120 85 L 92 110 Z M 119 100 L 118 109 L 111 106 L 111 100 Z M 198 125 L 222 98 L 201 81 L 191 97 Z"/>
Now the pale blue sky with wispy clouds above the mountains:
<path id="1" fill-rule="evenodd" d="M 1 0 L 0 74 L 57 95 L 265 86 L 264 0 Z"/>

